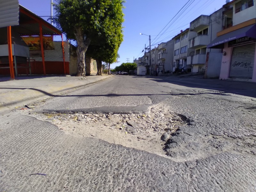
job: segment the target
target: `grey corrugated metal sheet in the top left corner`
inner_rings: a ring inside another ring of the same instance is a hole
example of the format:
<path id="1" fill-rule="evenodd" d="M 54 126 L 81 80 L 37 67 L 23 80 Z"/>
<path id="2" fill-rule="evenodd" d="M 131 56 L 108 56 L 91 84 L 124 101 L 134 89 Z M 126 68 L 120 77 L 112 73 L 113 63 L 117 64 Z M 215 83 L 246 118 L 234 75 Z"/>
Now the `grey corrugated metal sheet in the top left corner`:
<path id="1" fill-rule="evenodd" d="M 0 28 L 19 25 L 19 1 L 0 0 Z"/>

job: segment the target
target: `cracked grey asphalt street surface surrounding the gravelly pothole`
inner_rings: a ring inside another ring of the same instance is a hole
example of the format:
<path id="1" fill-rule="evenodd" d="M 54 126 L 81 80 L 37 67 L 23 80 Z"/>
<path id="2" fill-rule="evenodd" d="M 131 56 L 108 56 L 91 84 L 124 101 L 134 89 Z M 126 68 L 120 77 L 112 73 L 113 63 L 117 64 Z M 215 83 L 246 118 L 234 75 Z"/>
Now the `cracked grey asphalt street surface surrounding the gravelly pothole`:
<path id="1" fill-rule="evenodd" d="M 161 103 L 189 122 L 166 143 L 171 159 L 73 137 L 17 110 L 2 115 L 0 191 L 256 191 L 255 88 L 232 86 L 114 76 L 35 110 L 146 113 Z"/>

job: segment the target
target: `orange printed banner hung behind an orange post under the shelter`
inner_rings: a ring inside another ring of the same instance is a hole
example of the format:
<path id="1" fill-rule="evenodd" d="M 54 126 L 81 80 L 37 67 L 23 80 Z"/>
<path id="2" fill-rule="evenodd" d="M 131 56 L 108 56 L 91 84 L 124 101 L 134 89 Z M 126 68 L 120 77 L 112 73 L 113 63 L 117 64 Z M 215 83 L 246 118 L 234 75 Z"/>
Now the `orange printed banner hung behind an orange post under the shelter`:
<path id="1" fill-rule="evenodd" d="M 52 36 L 43 36 L 44 50 L 54 49 Z M 41 50 L 41 42 L 39 36 L 22 37 L 23 41 L 28 45 L 29 50 Z"/>

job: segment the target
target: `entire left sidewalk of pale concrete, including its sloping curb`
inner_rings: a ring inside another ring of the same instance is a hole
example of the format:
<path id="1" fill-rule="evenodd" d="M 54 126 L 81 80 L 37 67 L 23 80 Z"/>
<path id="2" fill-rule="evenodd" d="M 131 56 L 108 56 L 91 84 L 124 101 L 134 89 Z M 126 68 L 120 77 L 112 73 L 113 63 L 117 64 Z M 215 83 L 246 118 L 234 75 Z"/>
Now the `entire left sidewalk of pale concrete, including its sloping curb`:
<path id="1" fill-rule="evenodd" d="M 110 77 L 87 76 L 81 79 L 76 76 L 25 76 L 15 80 L 3 77 L 0 78 L 0 112 Z"/>

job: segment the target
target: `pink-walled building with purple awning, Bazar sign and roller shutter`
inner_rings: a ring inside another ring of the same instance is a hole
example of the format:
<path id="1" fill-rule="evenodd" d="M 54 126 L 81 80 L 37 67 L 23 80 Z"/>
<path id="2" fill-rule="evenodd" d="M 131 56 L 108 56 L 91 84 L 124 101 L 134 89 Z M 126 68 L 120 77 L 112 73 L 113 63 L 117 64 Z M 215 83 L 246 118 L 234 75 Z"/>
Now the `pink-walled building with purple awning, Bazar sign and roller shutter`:
<path id="1" fill-rule="evenodd" d="M 226 8 L 223 30 L 207 48 L 223 49 L 220 79 L 243 78 L 256 82 L 256 5 L 254 0 L 233 0 Z"/>

